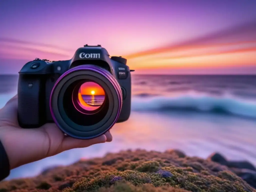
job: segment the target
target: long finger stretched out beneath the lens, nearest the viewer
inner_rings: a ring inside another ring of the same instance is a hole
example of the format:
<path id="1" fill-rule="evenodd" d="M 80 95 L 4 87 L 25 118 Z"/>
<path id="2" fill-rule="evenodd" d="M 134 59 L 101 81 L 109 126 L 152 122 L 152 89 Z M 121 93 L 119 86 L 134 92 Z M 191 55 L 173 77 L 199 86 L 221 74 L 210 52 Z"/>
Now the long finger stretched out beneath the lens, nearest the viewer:
<path id="1" fill-rule="evenodd" d="M 99 137 L 96 137 L 94 139 L 89 139 L 89 140 L 81 140 L 81 139 L 75 139 L 73 137 L 65 137 L 61 145 L 61 151 L 66 151 L 73 148 L 89 147 L 90 145 L 94 145 L 97 143 L 105 143 L 106 140 L 107 138 L 105 135 L 101 135 Z"/>

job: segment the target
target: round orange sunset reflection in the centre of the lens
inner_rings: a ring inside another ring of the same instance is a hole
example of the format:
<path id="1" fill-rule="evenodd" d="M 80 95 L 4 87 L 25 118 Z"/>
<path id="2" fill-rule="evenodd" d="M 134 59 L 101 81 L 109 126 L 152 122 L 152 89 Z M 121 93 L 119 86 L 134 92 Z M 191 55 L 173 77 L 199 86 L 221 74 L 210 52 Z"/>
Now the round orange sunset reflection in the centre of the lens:
<path id="1" fill-rule="evenodd" d="M 94 82 L 83 83 L 78 92 L 80 105 L 89 111 L 98 109 L 105 100 L 105 91 Z"/>

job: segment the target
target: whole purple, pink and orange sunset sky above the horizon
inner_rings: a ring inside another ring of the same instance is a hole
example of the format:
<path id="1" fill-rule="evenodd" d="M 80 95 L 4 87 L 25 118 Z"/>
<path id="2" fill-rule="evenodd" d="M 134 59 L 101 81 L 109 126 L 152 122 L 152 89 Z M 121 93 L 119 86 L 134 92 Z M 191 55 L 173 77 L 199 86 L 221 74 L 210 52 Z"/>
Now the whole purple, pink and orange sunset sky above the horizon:
<path id="1" fill-rule="evenodd" d="M 0 26 L 0 73 L 101 44 L 135 74 L 256 74 L 256 0 L 8 0 Z"/>

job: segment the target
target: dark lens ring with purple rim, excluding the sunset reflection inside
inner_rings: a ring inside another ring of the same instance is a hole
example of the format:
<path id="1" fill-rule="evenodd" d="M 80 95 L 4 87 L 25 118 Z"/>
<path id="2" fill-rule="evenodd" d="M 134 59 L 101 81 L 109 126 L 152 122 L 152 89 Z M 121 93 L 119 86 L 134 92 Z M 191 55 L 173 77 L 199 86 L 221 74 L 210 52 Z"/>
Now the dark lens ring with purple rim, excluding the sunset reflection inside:
<path id="1" fill-rule="evenodd" d="M 106 92 L 104 106 L 91 115 L 77 111 L 72 94 L 78 83 L 93 81 Z M 50 95 L 50 111 L 54 122 L 67 135 L 90 139 L 104 134 L 116 123 L 122 108 L 122 91 L 114 77 L 103 68 L 80 65 L 65 73 L 56 81 Z"/>

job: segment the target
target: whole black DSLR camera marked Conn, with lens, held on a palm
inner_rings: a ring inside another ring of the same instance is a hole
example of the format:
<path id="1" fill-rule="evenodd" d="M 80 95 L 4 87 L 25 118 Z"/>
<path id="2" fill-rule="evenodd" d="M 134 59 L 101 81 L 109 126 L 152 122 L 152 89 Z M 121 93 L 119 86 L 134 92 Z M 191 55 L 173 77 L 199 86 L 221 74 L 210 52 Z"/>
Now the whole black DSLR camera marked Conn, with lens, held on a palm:
<path id="1" fill-rule="evenodd" d="M 55 122 L 71 137 L 91 139 L 128 120 L 134 70 L 126 62 L 101 45 L 84 45 L 70 60 L 29 61 L 19 71 L 19 125 Z"/>

